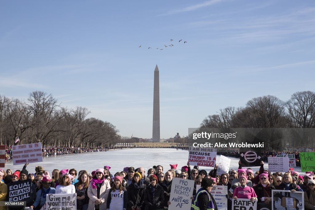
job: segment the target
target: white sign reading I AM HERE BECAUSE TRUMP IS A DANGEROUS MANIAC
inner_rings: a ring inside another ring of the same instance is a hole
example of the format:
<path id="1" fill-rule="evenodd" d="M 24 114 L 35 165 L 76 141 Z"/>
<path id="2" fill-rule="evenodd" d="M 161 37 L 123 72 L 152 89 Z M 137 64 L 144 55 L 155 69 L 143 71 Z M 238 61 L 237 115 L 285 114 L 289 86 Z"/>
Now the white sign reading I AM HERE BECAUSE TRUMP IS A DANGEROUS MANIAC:
<path id="1" fill-rule="evenodd" d="M 214 167 L 216 162 L 216 149 L 189 147 L 188 162 L 191 166 Z"/>

